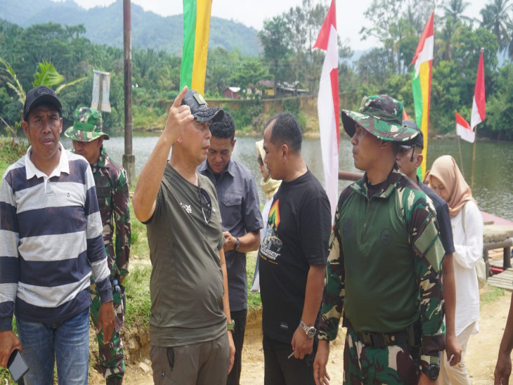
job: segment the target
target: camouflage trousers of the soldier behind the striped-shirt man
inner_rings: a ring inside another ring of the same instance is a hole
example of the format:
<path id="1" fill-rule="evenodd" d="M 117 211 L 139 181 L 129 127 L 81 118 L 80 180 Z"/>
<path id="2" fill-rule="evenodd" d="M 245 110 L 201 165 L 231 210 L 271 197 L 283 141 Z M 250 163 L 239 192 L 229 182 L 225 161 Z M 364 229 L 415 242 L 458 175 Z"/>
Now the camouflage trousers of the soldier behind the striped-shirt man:
<path id="1" fill-rule="evenodd" d="M 120 285 L 120 287 L 122 286 Z M 114 287 L 112 287 L 112 289 L 114 289 Z M 124 287 L 122 287 L 122 292 L 124 292 Z M 94 283 L 89 289 L 89 294 L 91 294 L 91 301 L 93 301 L 91 304 L 91 320 L 96 328 L 101 303 Z M 107 345 L 103 344 L 103 331 L 96 334 L 96 338 L 98 339 L 98 361 L 100 363 L 100 370 L 105 378 L 112 376 L 122 377 L 124 374 L 123 342 L 121 340 L 121 334 L 119 334 L 124 320 L 124 303 L 119 293 L 112 292 L 112 297 L 116 323 L 112 337 L 110 337 L 110 342 Z"/>

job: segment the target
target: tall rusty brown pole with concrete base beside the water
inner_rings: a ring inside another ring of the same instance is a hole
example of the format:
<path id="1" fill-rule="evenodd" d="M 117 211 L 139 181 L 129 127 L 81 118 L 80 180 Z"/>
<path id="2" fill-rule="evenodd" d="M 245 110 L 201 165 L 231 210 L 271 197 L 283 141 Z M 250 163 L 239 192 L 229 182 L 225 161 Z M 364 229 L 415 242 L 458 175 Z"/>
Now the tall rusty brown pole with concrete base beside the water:
<path id="1" fill-rule="evenodd" d="M 136 184 L 136 156 L 132 153 L 132 41 L 131 4 L 123 0 L 123 53 L 124 53 L 124 155 L 123 168 L 129 185 Z"/>

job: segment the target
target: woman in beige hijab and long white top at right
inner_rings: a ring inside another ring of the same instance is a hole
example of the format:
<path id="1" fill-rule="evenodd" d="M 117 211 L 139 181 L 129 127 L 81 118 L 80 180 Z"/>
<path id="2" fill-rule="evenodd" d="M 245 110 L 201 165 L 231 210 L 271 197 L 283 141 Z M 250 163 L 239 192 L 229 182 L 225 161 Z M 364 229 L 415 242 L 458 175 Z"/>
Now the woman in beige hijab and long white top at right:
<path id="1" fill-rule="evenodd" d="M 470 384 L 465 367 L 467 342 L 479 332 L 479 285 L 476 265 L 483 258 L 483 218 L 465 178 L 450 155 L 436 159 L 429 172 L 429 185 L 449 207 L 454 240 L 456 282 L 455 331 L 462 347 L 461 362 L 455 366 L 440 360 L 439 384 Z"/>

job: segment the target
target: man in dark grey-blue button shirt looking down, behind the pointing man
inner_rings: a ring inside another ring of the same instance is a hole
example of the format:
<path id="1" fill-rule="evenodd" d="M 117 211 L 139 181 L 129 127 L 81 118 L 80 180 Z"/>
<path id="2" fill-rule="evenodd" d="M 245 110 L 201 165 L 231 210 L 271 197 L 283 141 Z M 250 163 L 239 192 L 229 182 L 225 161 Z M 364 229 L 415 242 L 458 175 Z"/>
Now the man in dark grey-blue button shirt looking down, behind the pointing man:
<path id="1" fill-rule="evenodd" d="M 221 122 L 210 124 L 210 132 L 212 138 L 207 159 L 197 167 L 197 171 L 214 183 L 219 197 L 230 314 L 235 323 L 235 362 L 227 384 L 238 385 L 247 316 L 246 253 L 259 248 L 259 230 L 264 225 L 254 176 L 242 164 L 231 159 L 236 139 L 235 124 L 230 114 L 225 112 Z"/>

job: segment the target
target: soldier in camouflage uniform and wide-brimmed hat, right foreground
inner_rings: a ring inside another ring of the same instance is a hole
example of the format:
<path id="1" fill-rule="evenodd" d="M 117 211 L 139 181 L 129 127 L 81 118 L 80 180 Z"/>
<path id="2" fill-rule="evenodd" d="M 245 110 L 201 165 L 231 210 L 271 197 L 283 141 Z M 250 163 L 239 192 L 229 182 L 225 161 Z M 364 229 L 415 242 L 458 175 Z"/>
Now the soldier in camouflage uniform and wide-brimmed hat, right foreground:
<path id="1" fill-rule="evenodd" d="M 329 376 L 329 343 L 339 320 L 348 327 L 344 384 L 436 384 L 444 255 L 431 200 L 398 170 L 399 143 L 418 132 L 403 126 L 403 105 L 389 96 L 363 98 L 342 111 L 355 167 L 363 178 L 340 195 L 323 292 L 317 384 Z"/>

